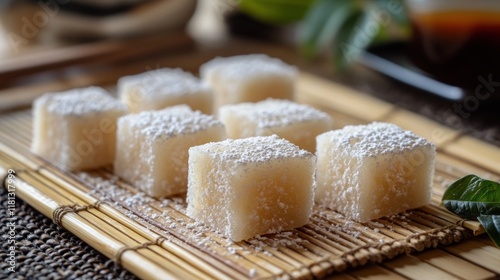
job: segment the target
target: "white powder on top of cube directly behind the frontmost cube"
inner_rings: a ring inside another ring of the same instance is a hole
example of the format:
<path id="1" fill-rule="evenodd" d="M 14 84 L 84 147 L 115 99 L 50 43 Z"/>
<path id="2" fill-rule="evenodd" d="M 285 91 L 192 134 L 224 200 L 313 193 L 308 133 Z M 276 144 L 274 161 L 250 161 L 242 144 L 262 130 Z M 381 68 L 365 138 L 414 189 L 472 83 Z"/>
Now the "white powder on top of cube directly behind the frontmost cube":
<path id="1" fill-rule="evenodd" d="M 307 121 L 331 121 L 330 116 L 324 112 L 284 99 L 225 105 L 219 110 L 221 115 L 231 114 L 255 121 L 258 128 L 283 127 Z"/>

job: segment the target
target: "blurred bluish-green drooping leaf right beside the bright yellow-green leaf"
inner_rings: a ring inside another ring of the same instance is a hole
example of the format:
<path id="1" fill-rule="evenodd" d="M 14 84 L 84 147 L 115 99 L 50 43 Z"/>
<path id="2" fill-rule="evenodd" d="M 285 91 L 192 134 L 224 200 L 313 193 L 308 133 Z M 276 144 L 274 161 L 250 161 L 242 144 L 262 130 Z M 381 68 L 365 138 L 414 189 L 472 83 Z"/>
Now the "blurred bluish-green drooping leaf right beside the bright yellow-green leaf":
<path id="1" fill-rule="evenodd" d="M 307 13 L 298 34 L 304 55 L 311 58 L 318 53 L 320 45 L 324 47 L 331 42 L 353 9 L 349 0 L 317 1 Z"/>

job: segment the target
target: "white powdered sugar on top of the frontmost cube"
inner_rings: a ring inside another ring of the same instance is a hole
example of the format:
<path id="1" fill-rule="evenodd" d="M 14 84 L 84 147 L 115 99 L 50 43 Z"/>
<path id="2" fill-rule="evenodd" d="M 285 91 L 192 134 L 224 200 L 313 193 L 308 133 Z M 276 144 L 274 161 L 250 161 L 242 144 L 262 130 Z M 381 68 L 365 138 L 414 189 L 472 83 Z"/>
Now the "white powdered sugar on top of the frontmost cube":
<path id="1" fill-rule="evenodd" d="M 310 158 L 313 154 L 301 150 L 289 141 L 277 135 L 257 136 L 244 139 L 227 139 L 192 147 L 223 162 L 244 164 L 250 162 L 268 162 L 280 158 Z"/>

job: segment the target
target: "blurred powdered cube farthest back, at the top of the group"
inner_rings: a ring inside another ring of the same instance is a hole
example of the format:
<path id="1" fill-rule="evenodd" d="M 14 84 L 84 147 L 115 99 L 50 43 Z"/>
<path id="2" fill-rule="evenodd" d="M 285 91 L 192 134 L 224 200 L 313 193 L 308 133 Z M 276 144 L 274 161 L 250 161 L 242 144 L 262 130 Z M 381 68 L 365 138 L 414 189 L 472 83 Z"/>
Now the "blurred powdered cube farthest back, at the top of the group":
<path id="1" fill-rule="evenodd" d="M 218 57 L 200 68 L 215 97 L 215 108 L 267 98 L 292 99 L 297 69 L 263 54 Z"/>

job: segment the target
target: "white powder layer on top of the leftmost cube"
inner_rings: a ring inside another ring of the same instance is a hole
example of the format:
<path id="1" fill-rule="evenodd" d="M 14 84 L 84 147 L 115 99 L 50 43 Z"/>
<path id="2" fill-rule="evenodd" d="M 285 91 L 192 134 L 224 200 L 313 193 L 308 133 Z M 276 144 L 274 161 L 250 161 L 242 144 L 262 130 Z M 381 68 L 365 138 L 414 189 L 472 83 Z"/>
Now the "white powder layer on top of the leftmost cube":
<path id="1" fill-rule="evenodd" d="M 59 93 L 46 93 L 34 101 L 35 107 L 46 107 L 48 113 L 84 116 L 109 111 L 125 112 L 127 107 L 100 87 L 76 88 Z"/>

